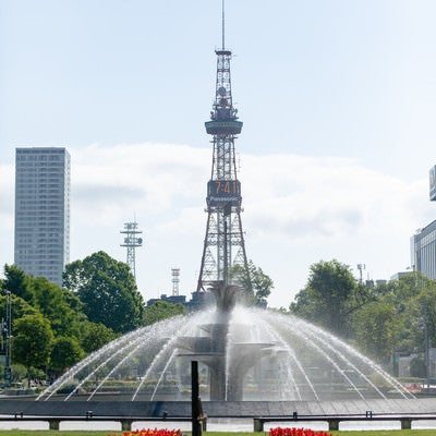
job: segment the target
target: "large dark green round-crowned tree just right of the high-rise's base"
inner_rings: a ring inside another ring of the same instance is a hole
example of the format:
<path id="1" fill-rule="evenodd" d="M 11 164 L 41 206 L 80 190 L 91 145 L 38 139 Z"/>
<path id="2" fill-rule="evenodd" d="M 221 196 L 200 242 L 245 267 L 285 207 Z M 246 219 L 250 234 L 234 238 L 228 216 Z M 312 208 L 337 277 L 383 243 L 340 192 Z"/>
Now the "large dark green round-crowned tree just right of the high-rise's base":
<path id="1" fill-rule="evenodd" d="M 142 325 L 144 301 L 129 265 L 105 252 L 66 265 L 63 284 L 77 293 L 93 323 L 122 334 Z"/>

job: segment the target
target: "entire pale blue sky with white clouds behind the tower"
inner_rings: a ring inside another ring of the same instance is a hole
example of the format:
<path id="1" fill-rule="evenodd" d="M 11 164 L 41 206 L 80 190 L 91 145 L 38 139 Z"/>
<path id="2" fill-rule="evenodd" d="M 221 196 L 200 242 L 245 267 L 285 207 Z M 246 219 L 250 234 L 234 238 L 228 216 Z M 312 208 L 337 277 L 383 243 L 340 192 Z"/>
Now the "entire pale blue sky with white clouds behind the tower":
<path id="1" fill-rule="evenodd" d="M 3 0 L 0 263 L 13 262 L 17 146 L 72 155 L 71 259 L 123 259 L 146 298 L 195 288 L 211 153 L 219 0 Z M 247 255 L 287 306 L 320 258 L 388 278 L 435 218 L 434 1 L 227 0 Z M 183 250 L 181 249 L 183 247 Z"/>

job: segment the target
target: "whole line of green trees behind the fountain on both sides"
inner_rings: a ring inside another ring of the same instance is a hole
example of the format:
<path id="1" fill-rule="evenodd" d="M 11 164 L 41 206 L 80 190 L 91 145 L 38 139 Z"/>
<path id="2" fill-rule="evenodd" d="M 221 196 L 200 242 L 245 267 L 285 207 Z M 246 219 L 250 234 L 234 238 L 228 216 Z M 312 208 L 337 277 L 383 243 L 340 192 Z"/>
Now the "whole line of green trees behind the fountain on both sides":
<path id="1" fill-rule="evenodd" d="M 262 268 L 250 261 L 232 275 L 244 288 L 245 301 L 266 306 L 274 283 Z M 63 287 L 14 265 L 4 266 L 0 284 L 10 291 L 15 379 L 25 374 L 57 377 L 128 331 L 186 313 L 182 304 L 164 301 L 146 306 L 130 267 L 105 252 L 66 265 Z M 7 300 L 0 295 L 0 314 L 5 314 Z M 396 355 L 415 353 L 416 376 L 425 372 L 425 332 L 427 343 L 436 344 L 436 281 L 419 272 L 387 283 L 362 283 L 349 266 L 320 261 L 311 266 L 289 312 L 281 312 L 329 330 L 390 370 Z M 4 322 L 2 326 L 4 352 Z"/>

